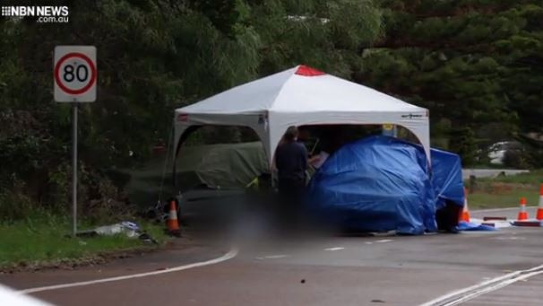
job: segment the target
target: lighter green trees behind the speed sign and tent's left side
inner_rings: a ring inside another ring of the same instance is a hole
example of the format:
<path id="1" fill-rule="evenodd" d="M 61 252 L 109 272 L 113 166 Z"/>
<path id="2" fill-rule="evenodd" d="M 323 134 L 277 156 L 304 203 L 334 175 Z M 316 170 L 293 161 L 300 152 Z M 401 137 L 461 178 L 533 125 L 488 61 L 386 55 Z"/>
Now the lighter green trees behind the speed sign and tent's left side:
<path id="1" fill-rule="evenodd" d="M 12 203 L 68 199 L 70 106 L 53 101 L 56 45 L 98 50 L 98 101 L 79 112 L 86 203 L 103 197 L 109 170 L 144 161 L 168 137 L 173 109 L 299 63 L 349 77 L 382 24 L 371 0 L 56 4 L 69 6 L 69 23 L 0 20 L 3 215 Z"/>

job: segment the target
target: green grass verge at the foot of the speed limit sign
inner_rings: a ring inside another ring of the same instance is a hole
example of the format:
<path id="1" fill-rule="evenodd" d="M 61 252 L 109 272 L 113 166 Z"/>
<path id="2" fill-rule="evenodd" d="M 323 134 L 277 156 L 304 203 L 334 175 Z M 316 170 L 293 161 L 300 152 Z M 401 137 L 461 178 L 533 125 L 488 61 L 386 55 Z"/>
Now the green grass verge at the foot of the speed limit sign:
<path id="1" fill-rule="evenodd" d="M 168 238 L 158 224 L 136 222 L 142 230 L 159 241 Z M 86 226 L 85 226 L 86 225 Z M 81 229 L 94 226 L 82 224 Z M 0 269 L 9 267 L 39 267 L 51 263 L 91 261 L 106 253 L 136 249 L 156 249 L 157 245 L 125 235 L 93 238 L 66 237 L 71 230 L 68 219 L 56 215 L 41 214 L 25 221 L 0 222 Z"/>

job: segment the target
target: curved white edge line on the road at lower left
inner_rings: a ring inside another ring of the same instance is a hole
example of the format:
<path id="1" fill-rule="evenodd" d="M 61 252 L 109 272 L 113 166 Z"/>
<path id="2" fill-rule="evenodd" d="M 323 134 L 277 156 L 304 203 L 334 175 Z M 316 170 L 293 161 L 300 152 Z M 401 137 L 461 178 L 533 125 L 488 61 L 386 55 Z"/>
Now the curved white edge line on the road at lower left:
<path id="1" fill-rule="evenodd" d="M 138 273 L 133 275 L 121 275 L 116 277 L 108 277 L 108 278 L 102 278 L 102 279 L 95 279 L 92 281 L 85 281 L 85 282 L 76 282 L 76 283 L 69 283 L 69 284 L 54 284 L 44 287 L 37 287 L 37 288 L 30 288 L 30 289 L 24 289 L 22 291 L 19 291 L 18 293 L 38 293 L 41 291 L 49 291 L 49 290 L 57 290 L 57 289 L 64 289 L 64 288 L 71 288 L 71 287 L 79 287 L 89 284 L 101 284 L 101 283 L 109 283 L 109 282 L 116 282 L 116 281 L 122 281 L 125 279 L 132 279 L 132 278 L 139 278 L 139 277 L 146 277 L 151 275 L 161 275 L 171 272 L 177 272 L 182 270 L 191 269 L 194 267 L 204 267 L 204 266 L 210 266 L 214 264 L 218 264 L 220 262 L 226 261 L 231 258 L 235 258 L 237 256 L 238 249 L 233 248 L 228 251 L 225 255 L 221 256 L 220 258 L 214 258 L 207 261 L 202 262 L 196 262 L 194 264 L 189 264 L 185 266 L 179 266 L 179 267 L 170 267 L 166 268 L 164 270 L 160 271 L 152 271 L 152 272 L 145 272 L 145 273 Z"/>

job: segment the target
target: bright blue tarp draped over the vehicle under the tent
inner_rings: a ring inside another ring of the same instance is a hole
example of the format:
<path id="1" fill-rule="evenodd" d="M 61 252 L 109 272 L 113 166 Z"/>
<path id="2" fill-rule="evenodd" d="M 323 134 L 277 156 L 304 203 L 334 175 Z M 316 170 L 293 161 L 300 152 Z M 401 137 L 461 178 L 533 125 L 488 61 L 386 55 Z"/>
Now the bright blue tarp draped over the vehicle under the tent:
<path id="1" fill-rule="evenodd" d="M 435 232 L 436 205 L 463 203 L 463 189 L 458 155 L 432 150 L 432 157 L 439 169 L 431 179 L 417 144 L 388 136 L 346 144 L 315 173 L 307 203 L 321 220 L 349 231 Z"/>

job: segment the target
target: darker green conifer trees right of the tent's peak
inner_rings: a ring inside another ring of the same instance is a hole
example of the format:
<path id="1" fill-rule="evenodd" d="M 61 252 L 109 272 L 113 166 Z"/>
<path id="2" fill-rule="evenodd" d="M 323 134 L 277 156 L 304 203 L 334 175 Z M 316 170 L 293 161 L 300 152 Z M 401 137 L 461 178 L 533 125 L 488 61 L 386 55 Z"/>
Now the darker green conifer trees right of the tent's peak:
<path id="1" fill-rule="evenodd" d="M 430 109 L 434 145 L 471 164 L 477 146 L 543 133 L 540 1 L 382 4 L 386 34 L 364 50 L 357 81 Z"/>

